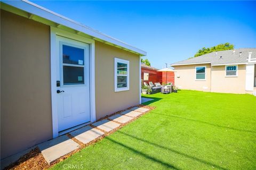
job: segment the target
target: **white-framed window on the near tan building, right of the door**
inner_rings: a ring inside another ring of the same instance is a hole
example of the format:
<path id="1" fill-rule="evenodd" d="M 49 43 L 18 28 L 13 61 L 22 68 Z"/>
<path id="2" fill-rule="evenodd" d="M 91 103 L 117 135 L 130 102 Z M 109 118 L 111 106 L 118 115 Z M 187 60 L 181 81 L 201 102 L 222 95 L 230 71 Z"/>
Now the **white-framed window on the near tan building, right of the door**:
<path id="1" fill-rule="evenodd" d="M 129 61 L 115 58 L 115 91 L 129 90 Z"/>

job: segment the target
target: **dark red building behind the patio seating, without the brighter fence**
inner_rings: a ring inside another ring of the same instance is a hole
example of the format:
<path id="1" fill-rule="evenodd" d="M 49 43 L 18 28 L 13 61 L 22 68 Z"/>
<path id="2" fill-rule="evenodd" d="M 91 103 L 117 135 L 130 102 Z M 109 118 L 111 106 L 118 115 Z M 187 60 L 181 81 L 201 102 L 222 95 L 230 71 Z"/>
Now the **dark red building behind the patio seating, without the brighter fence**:
<path id="1" fill-rule="evenodd" d="M 141 64 L 141 79 L 143 82 L 149 81 L 162 83 L 162 72 L 157 72 L 158 69 L 145 64 Z"/>

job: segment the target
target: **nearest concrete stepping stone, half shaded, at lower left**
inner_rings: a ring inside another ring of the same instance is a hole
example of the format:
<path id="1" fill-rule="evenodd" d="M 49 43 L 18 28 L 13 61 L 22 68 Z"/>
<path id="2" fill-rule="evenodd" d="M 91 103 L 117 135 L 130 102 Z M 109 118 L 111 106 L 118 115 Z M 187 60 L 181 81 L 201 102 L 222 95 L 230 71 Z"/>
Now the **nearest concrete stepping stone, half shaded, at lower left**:
<path id="1" fill-rule="evenodd" d="M 51 164 L 54 162 L 54 160 L 79 148 L 79 145 L 66 135 L 62 135 L 58 138 L 39 144 L 38 148 L 44 156 L 46 162 Z"/>

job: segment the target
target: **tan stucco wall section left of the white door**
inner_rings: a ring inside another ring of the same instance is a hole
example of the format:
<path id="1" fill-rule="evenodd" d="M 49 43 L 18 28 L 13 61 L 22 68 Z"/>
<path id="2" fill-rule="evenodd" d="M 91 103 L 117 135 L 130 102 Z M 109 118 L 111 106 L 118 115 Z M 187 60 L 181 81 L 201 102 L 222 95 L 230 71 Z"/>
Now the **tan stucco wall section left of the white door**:
<path id="1" fill-rule="evenodd" d="M 50 28 L 1 10 L 1 158 L 52 137 Z"/>

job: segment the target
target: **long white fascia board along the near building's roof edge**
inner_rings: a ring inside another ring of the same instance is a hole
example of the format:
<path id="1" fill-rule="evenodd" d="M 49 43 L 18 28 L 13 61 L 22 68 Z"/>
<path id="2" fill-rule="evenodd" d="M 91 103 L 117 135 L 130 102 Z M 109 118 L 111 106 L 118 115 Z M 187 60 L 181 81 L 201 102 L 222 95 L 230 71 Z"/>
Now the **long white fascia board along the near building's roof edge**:
<path id="1" fill-rule="evenodd" d="M 50 11 L 42 6 L 32 3 L 32 2 L 22 0 L 22 1 L 4 1 L 4 3 L 14 6 L 16 8 L 19 8 L 20 10 L 26 11 L 30 14 L 34 14 L 34 15 L 40 16 L 44 19 L 53 21 L 53 22 L 57 23 L 57 27 L 58 27 L 58 25 L 65 25 L 66 27 L 77 30 L 79 32 L 83 32 L 92 37 L 99 38 L 103 41 L 107 41 L 107 42 L 115 44 L 117 46 L 121 46 L 123 48 L 129 49 L 132 52 L 139 53 L 140 55 L 143 55 L 143 56 L 147 55 L 147 52 L 145 52 L 139 48 L 133 47 L 129 44 L 126 44 L 126 43 L 118 40 L 118 39 L 115 39 L 113 37 L 105 35 L 97 30 L 94 30 L 90 27 L 82 25 L 81 23 L 78 23 L 74 20 L 66 18 L 65 16 L 62 16 L 58 13 Z"/>

